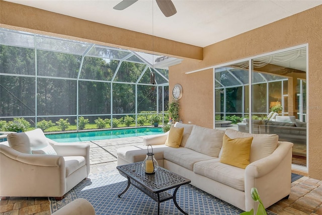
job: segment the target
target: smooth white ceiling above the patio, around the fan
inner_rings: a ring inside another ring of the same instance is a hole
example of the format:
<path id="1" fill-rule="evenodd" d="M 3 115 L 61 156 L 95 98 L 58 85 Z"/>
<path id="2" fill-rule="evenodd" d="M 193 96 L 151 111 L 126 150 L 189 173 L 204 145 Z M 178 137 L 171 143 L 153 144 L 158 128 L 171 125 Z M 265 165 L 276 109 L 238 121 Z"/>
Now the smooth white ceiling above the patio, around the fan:
<path id="1" fill-rule="evenodd" d="M 9 0 L 200 47 L 322 4 L 322 0 L 172 0 L 177 14 L 167 18 L 154 0 L 139 0 L 123 11 L 114 10 L 121 1 Z"/>

